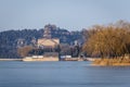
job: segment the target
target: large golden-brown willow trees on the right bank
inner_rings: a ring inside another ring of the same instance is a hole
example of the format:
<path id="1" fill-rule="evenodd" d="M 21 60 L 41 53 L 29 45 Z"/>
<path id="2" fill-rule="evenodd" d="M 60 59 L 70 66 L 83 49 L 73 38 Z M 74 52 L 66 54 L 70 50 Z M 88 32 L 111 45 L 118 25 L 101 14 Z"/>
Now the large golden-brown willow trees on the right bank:
<path id="1" fill-rule="evenodd" d="M 130 23 L 119 21 L 109 25 L 95 25 L 84 32 L 83 51 L 88 55 L 119 58 L 130 55 Z"/>

